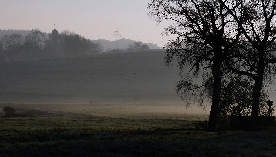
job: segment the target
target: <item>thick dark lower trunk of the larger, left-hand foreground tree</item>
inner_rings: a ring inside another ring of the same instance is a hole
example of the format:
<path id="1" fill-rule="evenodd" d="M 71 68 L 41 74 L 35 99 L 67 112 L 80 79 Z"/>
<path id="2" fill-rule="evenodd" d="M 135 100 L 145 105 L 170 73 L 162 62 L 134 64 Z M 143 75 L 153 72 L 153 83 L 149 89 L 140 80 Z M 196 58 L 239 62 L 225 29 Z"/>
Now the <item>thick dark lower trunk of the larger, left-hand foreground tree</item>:
<path id="1" fill-rule="evenodd" d="M 219 108 L 219 96 L 221 94 L 221 76 L 220 76 L 220 65 L 213 67 L 213 95 L 211 102 L 211 110 L 209 114 L 208 129 L 217 127 L 217 112 Z"/>

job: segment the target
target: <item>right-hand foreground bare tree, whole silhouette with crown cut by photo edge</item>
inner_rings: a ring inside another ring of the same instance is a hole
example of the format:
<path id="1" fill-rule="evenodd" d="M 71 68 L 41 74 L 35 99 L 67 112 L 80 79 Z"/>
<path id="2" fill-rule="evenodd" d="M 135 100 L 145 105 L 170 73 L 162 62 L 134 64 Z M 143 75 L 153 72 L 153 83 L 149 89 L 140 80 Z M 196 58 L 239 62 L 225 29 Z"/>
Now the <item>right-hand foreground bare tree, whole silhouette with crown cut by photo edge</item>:
<path id="1" fill-rule="evenodd" d="M 227 64 L 233 72 L 254 79 L 252 116 L 258 116 L 261 89 L 266 80 L 274 80 L 276 63 L 276 1 L 222 1 L 243 33 L 239 51 Z M 229 9 L 228 6 L 236 6 Z M 273 76 L 272 76 L 273 75 Z"/>

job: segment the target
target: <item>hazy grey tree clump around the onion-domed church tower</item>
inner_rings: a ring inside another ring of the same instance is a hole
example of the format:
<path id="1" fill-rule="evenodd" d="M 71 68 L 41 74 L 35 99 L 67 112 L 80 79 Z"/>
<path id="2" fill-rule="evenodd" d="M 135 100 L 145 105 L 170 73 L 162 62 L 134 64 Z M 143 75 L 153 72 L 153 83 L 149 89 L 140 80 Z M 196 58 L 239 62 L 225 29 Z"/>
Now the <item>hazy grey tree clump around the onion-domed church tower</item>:
<path id="1" fill-rule="evenodd" d="M 26 36 L 11 33 L 0 37 L 1 61 L 85 56 L 99 54 L 102 49 L 100 42 L 92 42 L 68 30 L 53 35 L 36 28 Z"/>

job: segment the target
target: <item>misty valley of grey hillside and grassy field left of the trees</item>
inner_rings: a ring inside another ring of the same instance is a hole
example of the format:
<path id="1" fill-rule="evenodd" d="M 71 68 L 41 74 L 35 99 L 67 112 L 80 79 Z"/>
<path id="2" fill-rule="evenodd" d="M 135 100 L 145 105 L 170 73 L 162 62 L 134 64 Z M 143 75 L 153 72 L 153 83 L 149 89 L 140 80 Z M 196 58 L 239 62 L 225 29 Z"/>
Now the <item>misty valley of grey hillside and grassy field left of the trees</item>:
<path id="1" fill-rule="evenodd" d="M 0 113 L 1 156 L 246 156 L 253 139 L 259 155 L 275 145 L 273 131 L 204 131 L 209 106 L 186 109 L 174 93 L 178 71 L 163 56 L 0 63 L 0 107 L 32 114 Z"/>

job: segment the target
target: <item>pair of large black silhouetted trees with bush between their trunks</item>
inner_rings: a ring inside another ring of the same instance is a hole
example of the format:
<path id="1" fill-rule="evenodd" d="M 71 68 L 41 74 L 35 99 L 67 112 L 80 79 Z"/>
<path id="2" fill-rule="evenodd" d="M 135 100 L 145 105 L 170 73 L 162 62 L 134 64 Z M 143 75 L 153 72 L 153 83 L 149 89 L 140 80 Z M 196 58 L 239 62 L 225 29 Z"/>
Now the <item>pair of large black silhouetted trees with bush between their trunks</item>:
<path id="1" fill-rule="evenodd" d="M 177 61 L 176 92 L 187 106 L 211 99 L 208 128 L 222 115 L 266 113 L 264 88 L 276 72 L 276 1 L 152 0 L 148 9 L 157 23 L 174 22 L 163 31 L 177 36 L 166 44 L 166 64 Z"/>

